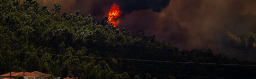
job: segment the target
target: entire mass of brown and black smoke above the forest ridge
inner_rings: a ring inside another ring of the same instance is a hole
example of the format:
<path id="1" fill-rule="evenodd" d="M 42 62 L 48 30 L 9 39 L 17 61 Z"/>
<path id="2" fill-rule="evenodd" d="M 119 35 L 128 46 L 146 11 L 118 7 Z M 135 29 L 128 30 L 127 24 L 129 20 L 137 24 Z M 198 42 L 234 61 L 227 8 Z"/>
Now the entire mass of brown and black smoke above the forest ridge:
<path id="1" fill-rule="evenodd" d="M 113 3 L 125 16 L 117 27 L 131 33 L 144 30 L 156 39 L 171 42 L 181 49 L 207 49 L 215 52 L 256 54 L 242 48 L 239 38 L 256 33 L 255 0 L 38 0 L 43 5 L 61 3 L 61 12 L 91 14 L 96 20 L 106 17 Z M 232 42 L 238 39 L 238 43 Z M 255 56 L 231 55 L 242 60 Z"/>

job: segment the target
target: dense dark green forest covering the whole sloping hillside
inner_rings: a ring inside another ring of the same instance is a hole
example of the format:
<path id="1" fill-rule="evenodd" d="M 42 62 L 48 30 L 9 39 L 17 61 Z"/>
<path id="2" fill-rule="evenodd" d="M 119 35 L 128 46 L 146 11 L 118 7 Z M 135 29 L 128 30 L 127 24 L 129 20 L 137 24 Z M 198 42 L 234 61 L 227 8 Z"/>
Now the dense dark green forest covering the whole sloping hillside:
<path id="1" fill-rule="evenodd" d="M 155 35 L 131 35 L 112 27 L 107 18 L 95 22 L 90 15 L 79 15 L 80 10 L 61 15 L 61 6 L 55 3 L 49 10 L 32 0 L 0 0 L 0 74 L 37 70 L 82 79 L 256 77 L 256 66 L 250 66 L 254 62 L 215 55 L 211 49 L 179 50 Z"/>

